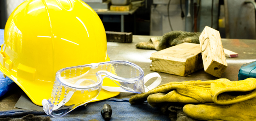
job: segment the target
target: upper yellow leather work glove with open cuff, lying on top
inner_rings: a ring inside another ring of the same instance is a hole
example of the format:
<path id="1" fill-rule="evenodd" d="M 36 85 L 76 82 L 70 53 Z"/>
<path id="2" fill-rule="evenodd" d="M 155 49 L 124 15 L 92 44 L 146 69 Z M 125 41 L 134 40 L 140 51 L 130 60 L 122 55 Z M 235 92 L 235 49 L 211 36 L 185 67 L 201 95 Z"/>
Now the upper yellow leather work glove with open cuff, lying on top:
<path id="1" fill-rule="evenodd" d="M 230 81 L 225 78 L 210 81 L 169 82 L 149 92 L 136 94 L 130 104 L 148 101 L 151 106 L 161 102 L 232 104 L 256 96 L 256 79 Z"/>

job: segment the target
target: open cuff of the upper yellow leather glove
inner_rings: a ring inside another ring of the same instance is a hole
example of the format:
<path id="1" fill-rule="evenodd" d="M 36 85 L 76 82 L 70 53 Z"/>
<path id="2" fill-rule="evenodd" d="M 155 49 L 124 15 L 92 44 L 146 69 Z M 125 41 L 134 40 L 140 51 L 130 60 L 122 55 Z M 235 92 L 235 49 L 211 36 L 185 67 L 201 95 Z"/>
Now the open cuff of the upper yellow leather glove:
<path id="1" fill-rule="evenodd" d="M 213 102 L 220 105 L 242 102 L 256 96 L 256 79 L 247 78 L 240 81 L 227 81 L 211 83 Z"/>

